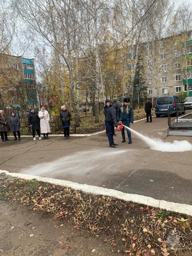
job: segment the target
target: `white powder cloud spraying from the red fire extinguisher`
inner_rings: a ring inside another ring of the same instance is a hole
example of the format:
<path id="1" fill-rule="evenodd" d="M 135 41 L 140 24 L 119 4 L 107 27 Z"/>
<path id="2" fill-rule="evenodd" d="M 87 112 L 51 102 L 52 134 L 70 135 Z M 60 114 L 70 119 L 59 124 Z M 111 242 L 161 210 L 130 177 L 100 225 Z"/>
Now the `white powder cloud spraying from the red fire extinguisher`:
<path id="1" fill-rule="evenodd" d="M 162 152 L 184 152 L 191 151 L 192 145 L 187 140 L 174 140 L 173 142 L 163 142 L 160 139 L 151 139 L 147 136 L 143 136 L 139 132 L 135 132 L 131 128 L 124 125 L 126 129 L 134 132 L 141 140 L 143 140 L 149 148 Z"/>

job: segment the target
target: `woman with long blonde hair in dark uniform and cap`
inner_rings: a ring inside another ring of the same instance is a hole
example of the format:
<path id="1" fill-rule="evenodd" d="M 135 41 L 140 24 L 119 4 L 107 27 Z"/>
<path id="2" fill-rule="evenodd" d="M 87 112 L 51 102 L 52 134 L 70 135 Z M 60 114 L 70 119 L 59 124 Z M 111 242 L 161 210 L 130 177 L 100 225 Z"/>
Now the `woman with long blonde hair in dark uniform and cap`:
<path id="1" fill-rule="evenodd" d="M 123 106 L 121 109 L 118 109 L 117 117 L 127 127 L 130 127 L 130 124 L 133 124 L 133 108 L 130 106 L 129 98 L 124 98 Z M 129 129 L 126 130 L 129 139 L 128 144 L 132 144 L 131 131 Z M 122 128 L 121 135 L 123 138 L 122 142 L 125 142 L 125 127 Z"/>

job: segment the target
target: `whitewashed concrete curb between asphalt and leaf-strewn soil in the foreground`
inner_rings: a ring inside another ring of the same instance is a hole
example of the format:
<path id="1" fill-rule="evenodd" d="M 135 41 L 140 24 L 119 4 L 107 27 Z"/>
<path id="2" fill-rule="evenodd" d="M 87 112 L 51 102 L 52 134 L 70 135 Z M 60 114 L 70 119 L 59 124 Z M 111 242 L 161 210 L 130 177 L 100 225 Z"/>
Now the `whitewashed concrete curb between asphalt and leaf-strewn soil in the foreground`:
<path id="1" fill-rule="evenodd" d="M 86 184 L 79 184 L 67 180 L 58 180 L 58 179 L 52 179 L 52 178 L 45 178 L 40 176 L 33 176 L 33 175 L 26 175 L 22 173 L 14 173 L 14 172 L 8 172 L 5 170 L 0 169 L 0 173 L 5 173 L 6 175 L 21 178 L 24 180 L 40 180 L 44 182 L 48 182 L 55 185 L 60 186 L 68 186 L 73 189 L 82 190 L 86 193 L 90 194 L 96 194 L 96 195 L 103 195 L 103 196 L 113 196 L 118 199 L 122 199 L 124 201 L 133 201 L 139 204 L 145 204 L 152 207 L 157 207 L 161 209 L 165 209 L 167 211 L 173 211 L 173 212 L 179 212 L 183 214 L 187 214 L 192 216 L 192 205 L 189 204 L 178 204 L 173 202 L 167 202 L 164 200 L 157 200 L 152 197 L 148 196 L 140 196 L 136 194 L 126 194 L 121 191 L 117 191 L 114 189 L 108 189 L 108 188 L 101 188 L 96 186 L 90 186 Z"/>

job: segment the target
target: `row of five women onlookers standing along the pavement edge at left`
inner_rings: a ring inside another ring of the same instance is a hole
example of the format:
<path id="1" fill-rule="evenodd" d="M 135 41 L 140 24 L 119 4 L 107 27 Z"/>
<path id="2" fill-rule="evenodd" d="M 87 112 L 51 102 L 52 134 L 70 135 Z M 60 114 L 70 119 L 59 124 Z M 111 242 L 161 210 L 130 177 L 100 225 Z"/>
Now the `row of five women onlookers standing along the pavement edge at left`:
<path id="1" fill-rule="evenodd" d="M 70 127 L 70 119 L 71 115 L 65 106 L 61 106 L 60 111 L 60 120 L 62 121 L 62 127 L 64 131 L 64 138 L 70 139 L 69 137 L 69 127 Z M 41 133 L 43 133 L 43 140 L 49 140 L 49 132 L 50 132 L 50 116 L 47 110 L 45 110 L 44 106 L 41 106 L 41 110 L 36 113 L 34 108 L 29 109 L 28 114 L 28 127 L 32 129 L 33 140 L 36 140 L 35 131 L 39 137 L 39 140 L 42 140 Z M 11 111 L 11 116 L 8 118 L 5 116 L 4 111 L 0 110 L 0 133 L 2 141 L 9 141 L 7 137 L 7 132 L 13 132 L 14 140 L 20 138 L 20 118 L 17 116 L 15 111 Z M 16 135 L 17 132 L 17 135 Z"/>

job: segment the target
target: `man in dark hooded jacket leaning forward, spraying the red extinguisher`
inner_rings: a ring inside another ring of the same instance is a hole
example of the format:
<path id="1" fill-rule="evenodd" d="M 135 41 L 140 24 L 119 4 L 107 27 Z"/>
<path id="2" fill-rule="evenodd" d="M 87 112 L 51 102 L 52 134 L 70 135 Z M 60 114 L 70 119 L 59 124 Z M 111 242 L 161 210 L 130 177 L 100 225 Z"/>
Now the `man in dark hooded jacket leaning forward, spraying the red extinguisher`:
<path id="1" fill-rule="evenodd" d="M 110 107 L 107 111 L 107 116 L 105 117 L 105 124 L 108 131 L 108 140 L 109 146 L 111 148 L 116 148 L 115 146 L 118 145 L 113 141 L 113 127 L 115 125 L 116 130 L 118 131 L 118 118 L 117 118 L 117 111 L 118 108 L 122 107 L 121 101 L 117 101 L 112 107 Z"/>

